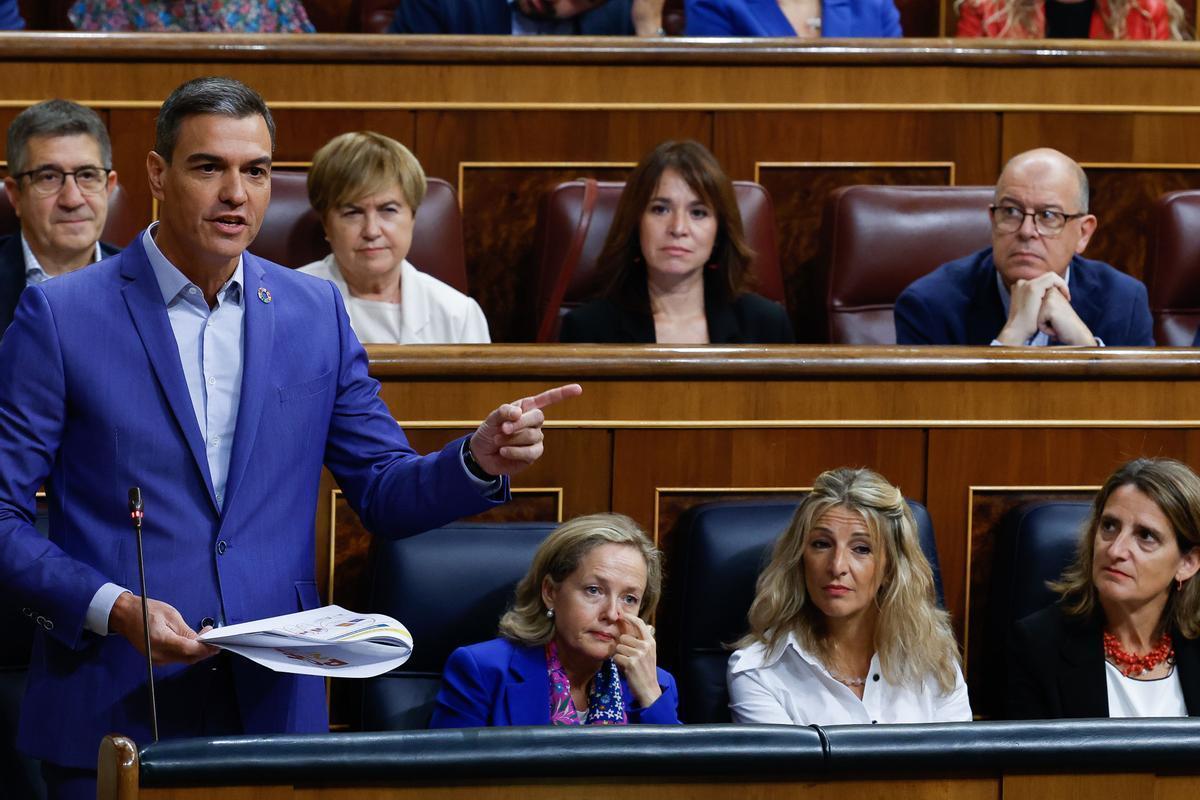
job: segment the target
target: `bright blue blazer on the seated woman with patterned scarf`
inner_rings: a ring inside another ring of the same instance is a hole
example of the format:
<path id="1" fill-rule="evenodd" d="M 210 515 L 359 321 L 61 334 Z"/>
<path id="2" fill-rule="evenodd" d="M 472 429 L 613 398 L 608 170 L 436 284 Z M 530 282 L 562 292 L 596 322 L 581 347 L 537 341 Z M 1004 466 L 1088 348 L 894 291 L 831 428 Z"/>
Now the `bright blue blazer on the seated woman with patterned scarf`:
<path id="1" fill-rule="evenodd" d="M 662 696 L 644 709 L 634 708 L 624 676 L 620 688 L 631 724 L 679 724 L 679 693 L 674 679 L 659 669 Z M 550 724 L 550 675 L 545 649 L 509 639 L 492 639 L 458 648 L 446 660 L 442 691 L 431 728 L 488 728 Z"/>

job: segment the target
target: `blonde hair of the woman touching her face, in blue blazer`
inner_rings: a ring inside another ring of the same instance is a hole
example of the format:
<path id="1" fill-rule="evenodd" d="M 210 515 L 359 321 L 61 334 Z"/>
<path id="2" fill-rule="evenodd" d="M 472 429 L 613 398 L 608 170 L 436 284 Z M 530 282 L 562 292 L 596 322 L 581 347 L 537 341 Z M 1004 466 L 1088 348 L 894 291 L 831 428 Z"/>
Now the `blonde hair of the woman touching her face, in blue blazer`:
<path id="1" fill-rule="evenodd" d="M 534 553 L 533 564 L 517 584 L 512 608 L 500 618 L 500 636 L 526 646 L 554 638 L 554 620 L 546 616 L 541 587 L 548 577 L 560 584 L 583 558 L 601 545 L 628 545 L 646 560 L 646 591 L 637 615 L 654 613 L 662 591 L 662 558 L 637 523 L 620 513 L 576 517 L 556 528 Z"/>

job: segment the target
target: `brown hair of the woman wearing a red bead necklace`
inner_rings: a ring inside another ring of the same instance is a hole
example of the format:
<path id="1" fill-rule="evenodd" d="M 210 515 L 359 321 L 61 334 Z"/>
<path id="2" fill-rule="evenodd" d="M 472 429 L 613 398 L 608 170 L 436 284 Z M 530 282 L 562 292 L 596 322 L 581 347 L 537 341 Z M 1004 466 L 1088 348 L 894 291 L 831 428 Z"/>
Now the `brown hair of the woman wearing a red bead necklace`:
<path id="1" fill-rule="evenodd" d="M 1200 477 L 1174 458 L 1138 458 L 1122 464 L 1109 476 L 1092 500 L 1092 513 L 1079 537 L 1075 560 L 1062 578 L 1049 587 L 1058 593 L 1063 612 L 1073 616 L 1091 616 L 1099 609 L 1092 560 L 1096 557 L 1096 529 L 1104 516 L 1109 498 L 1122 486 L 1133 486 L 1158 506 L 1171 523 L 1180 553 L 1200 546 Z M 1159 628 L 1170 624 L 1184 638 L 1200 636 L 1200 581 L 1187 581 L 1183 589 L 1172 583 L 1163 608 Z"/>

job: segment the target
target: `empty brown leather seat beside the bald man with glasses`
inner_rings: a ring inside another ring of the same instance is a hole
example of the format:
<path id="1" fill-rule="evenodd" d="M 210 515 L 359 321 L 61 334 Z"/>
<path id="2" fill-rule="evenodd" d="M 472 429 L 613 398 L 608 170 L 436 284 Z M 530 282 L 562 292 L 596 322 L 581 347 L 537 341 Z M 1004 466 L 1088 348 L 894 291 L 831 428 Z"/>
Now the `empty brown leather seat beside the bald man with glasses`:
<path id="1" fill-rule="evenodd" d="M 824 287 L 805 313 L 834 344 L 895 344 L 892 308 L 910 283 L 991 243 L 990 186 L 844 186 L 826 199 Z"/>

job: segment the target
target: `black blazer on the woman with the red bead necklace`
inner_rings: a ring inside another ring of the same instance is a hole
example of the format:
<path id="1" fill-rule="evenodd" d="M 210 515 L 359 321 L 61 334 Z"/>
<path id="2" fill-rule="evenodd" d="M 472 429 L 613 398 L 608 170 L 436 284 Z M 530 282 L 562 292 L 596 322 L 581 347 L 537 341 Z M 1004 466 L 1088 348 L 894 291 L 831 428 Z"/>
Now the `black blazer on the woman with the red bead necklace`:
<path id="1" fill-rule="evenodd" d="M 1108 717 L 1103 628 L 1098 619 L 1066 615 L 1058 606 L 1026 616 L 1008 644 L 1009 720 Z M 1200 640 L 1174 634 L 1188 716 L 1200 716 Z"/>

